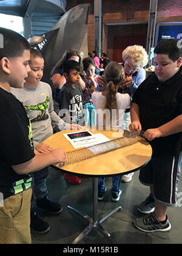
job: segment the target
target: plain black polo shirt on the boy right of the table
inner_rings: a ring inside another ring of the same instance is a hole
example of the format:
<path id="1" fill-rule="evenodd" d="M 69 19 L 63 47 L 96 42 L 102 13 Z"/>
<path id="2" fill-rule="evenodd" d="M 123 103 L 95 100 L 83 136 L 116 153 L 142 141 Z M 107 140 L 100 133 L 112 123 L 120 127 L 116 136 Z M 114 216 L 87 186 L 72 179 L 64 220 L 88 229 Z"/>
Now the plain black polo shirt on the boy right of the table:
<path id="1" fill-rule="evenodd" d="M 132 102 L 140 107 L 143 130 L 168 123 L 182 114 L 182 68 L 170 79 L 160 82 L 154 74 L 147 77 L 133 95 Z M 178 155 L 182 132 L 150 141 L 156 156 Z"/>

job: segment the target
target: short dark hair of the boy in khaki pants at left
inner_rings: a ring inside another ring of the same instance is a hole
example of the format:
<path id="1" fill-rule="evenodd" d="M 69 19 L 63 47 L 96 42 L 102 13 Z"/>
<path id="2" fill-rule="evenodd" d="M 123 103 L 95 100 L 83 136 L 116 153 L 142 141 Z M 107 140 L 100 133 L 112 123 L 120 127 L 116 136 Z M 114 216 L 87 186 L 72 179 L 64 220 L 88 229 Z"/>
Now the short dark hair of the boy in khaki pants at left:
<path id="1" fill-rule="evenodd" d="M 30 50 L 29 42 L 15 31 L 0 27 L 0 34 L 3 40 L 2 48 L 0 47 L 0 60 L 3 57 L 21 57 L 25 50 Z"/>

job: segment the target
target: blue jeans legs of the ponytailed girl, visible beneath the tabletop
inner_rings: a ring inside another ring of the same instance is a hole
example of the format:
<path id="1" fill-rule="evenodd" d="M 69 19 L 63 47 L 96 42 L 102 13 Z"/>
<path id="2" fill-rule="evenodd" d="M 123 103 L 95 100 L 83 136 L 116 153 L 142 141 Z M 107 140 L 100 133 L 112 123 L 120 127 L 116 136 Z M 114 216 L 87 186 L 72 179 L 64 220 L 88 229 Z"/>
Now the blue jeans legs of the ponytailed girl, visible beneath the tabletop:
<path id="1" fill-rule="evenodd" d="M 120 190 L 120 183 L 121 183 L 122 176 L 113 176 L 112 177 L 112 192 L 118 193 Z M 106 178 L 99 178 L 98 179 L 98 192 L 103 193 L 105 190 L 105 181 Z"/>

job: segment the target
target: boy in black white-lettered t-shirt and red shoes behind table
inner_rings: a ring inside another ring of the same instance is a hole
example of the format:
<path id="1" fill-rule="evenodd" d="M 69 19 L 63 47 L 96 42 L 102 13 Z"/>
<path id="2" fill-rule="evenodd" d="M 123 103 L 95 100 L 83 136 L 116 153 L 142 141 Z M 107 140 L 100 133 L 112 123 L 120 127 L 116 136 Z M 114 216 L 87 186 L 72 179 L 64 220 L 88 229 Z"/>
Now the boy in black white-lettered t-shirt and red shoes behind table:
<path id="1" fill-rule="evenodd" d="M 78 86 L 81 68 L 75 60 L 66 60 L 63 63 L 63 70 L 66 84 L 59 92 L 59 116 L 66 123 L 78 124 L 78 129 L 81 129 L 84 123 L 83 91 Z M 64 174 L 64 178 L 71 184 L 81 183 L 81 179 L 75 175 Z"/>

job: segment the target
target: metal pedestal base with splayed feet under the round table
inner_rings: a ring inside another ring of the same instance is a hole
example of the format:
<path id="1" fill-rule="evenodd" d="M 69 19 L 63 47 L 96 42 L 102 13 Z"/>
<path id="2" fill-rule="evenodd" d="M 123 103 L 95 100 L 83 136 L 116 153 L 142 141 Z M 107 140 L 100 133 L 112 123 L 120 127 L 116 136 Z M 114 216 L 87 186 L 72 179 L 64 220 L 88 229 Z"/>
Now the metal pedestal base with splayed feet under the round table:
<path id="1" fill-rule="evenodd" d="M 73 241 L 72 244 L 77 244 L 79 241 L 81 241 L 85 236 L 87 236 L 93 229 L 97 229 L 100 233 L 102 233 L 106 238 L 109 238 L 111 243 L 114 243 L 112 239 L 110 238 L 110 233 L 107 232 L 106 229 L 101 226 L 101 223 L 105 221 L 107 218 L 109 218 L 113 213 L 117 212 L 118 210 L 121 210 L 122 207 L 117 207 L 114 210 L 111 210 L 110 212 L 103 215 L 100 219 L 98 219 L 98 178 L 93 178 L 93 216 L 92 218 L 85 213 L 68 206 L 67 208 L 69 210 L 72 210 L 73 212 L 77 213 L 78 215 L 82 216 L 83 218 L 87 219 L 89 221 L 89 226 L 86 227 L 86 229 L 83 230 Z"/>

